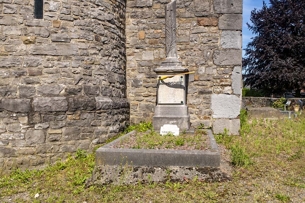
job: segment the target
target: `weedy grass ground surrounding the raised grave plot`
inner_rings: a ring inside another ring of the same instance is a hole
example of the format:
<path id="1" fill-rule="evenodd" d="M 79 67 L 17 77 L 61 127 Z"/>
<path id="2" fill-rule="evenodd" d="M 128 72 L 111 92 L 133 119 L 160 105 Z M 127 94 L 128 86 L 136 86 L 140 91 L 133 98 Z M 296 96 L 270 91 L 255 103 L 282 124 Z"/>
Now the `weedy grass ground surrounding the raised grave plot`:
<path id="1" fill-rule="evenodd" d="M 228 131 L 215 135 L 233 168 L 232 180 L 221 183 L 195 178 L 184 183 L 86 187 L 95 153 L 78 150 L 44 170 L 2 175 L 0 202 L 305 202 L 304 132 L 301 114 L 296 120 L 245 118 L 239 136 L 229 136 Z"/>

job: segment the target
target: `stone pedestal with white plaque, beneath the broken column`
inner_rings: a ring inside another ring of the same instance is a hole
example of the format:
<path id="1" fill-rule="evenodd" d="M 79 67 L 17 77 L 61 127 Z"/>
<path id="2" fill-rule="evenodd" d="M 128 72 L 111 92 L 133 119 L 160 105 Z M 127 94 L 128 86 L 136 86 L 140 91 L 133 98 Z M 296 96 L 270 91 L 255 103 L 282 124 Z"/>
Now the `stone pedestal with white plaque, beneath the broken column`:
<path id="1" fill-rule="evenodd" d="M 166 61 L 165 61 L 166 62 Z M 162 64 L 162 65 L 169 65 Z M 161 66 L 154 71 L 158 78 L 188 72 L 180 63 L 178 66 Z M 158 79 L 155 115 L 152 117 L 153 128 L 160 131 L 164 124 L 177 125 L 181 131 L 190 130 L 190 116 L 186 105 L 186 76 L 179 75 L 167 79 Z"/>

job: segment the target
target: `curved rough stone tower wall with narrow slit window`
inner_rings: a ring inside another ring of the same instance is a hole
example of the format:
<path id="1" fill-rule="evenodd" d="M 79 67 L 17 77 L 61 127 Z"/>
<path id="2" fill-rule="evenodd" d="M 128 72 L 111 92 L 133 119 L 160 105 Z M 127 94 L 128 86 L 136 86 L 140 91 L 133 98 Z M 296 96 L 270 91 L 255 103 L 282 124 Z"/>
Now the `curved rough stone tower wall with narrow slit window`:
<path id="1" fill-rule="evenodd" d="M 125 0 L 0 1 L 0 168 L 43 167 L 129 121 Z"/>

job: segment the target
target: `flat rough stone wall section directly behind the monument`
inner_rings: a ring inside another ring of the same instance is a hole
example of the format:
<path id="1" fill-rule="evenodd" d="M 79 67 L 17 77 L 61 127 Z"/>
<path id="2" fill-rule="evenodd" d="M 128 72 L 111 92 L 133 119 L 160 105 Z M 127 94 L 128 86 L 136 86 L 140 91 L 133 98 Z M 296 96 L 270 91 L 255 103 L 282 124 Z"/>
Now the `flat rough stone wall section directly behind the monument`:
<path id="1" fill-rule="evenodd" d="M 170 0 L 128 0 L 127 98 L 133 123 L 151 121 L 156 74 L 165 55 L 164 6 Z M 178 0 L 178 55 L 189 75 L 192 126 L 238 134 L 241 106 L 242 0 Z"/>

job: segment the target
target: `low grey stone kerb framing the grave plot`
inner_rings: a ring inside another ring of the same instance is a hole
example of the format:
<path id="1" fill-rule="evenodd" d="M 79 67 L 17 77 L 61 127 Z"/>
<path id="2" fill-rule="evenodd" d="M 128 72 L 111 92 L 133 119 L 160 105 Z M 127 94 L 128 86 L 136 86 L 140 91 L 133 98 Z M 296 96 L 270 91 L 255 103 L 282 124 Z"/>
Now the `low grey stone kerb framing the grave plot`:
<path id="1" fill-rule="evenodd" d="M 113 142 L 96 150 L 96 166 L 120 165 L 132 162 L 133 166 L 219 166 L 220 155 L 218 146 L 211 130 L 207 130 L 211 148 L 208 151 L 200 150 L 162 150 L 162 149 L 115 149 L 109 148 L 116 142 L 135 133 L 132 131 Z"/>

